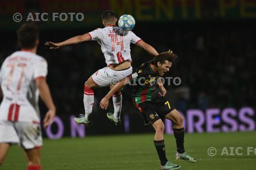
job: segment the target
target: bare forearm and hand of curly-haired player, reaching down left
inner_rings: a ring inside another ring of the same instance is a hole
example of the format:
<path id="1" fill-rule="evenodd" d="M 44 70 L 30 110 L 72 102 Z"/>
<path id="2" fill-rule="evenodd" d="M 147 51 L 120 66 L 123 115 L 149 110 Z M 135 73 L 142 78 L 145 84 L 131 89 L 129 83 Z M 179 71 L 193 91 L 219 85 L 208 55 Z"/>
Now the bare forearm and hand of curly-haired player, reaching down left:
<path id="1" fill-rule="evenodd" d="M 104 96 L 104 98 L 100 101 L 99 106 L 101 109 L 107 109 L 109 106 L 110 98 L 113 94 L 115 94 L 118 90 L 120 90 L 125 83 L 126 78 L 120 80 L 116 85 L 112 86 L 111 90 Z"/>

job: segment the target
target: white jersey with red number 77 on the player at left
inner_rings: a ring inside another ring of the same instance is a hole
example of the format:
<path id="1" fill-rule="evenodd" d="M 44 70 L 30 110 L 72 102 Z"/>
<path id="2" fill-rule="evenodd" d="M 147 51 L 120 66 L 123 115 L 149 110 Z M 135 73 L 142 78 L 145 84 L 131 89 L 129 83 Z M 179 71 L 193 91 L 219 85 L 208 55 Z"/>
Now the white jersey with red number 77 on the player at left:
<path id="1" fill-rule="evenodd" d="M 38 89 L 35 79 L 47 76 L 47 61 L 28 51 L 7 57 L 0 71 L 3 101 L 0 120 L 39 122 Z"/>

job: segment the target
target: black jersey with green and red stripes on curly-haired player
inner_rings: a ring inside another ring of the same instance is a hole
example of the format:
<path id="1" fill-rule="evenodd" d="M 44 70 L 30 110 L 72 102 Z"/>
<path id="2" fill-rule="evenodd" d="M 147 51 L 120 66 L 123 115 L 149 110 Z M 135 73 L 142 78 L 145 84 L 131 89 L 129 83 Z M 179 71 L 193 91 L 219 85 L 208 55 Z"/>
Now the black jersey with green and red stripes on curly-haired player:
<path id="1" fill-rule="evenodd" d="M 150 66 L 151 61 L 141 64 L 132 74 L 134 104 L 152 101 L 152 93 L 155 91 L 159 75 Z"/>

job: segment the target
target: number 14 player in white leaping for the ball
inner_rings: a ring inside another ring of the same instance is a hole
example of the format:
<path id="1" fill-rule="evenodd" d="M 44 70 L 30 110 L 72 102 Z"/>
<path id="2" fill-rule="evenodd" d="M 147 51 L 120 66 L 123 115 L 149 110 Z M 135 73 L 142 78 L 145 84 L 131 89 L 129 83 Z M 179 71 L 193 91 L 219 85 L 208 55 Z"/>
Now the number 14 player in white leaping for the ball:
<path id="1" fill-rule="evenodd" d="M 105 57 L 107 67 L 96 71 L 84 84 L 83 104 L 85 116 L 75 117 L 78 124 L 92 125 L 91 113 L 94 104 L 94 88 L 95 87 L 112 87 L 113 83 L 123 80 L 132 74 L 130 44 L 134 43 L 142 47 L 146 52 L 153 56 L 157 56 L 158 52 L 154 47 L 145 43 L 137 37 L 132 31 L 122 32 L 115 27 L 117 18 L 113 11 L 105 11 L 102 13 L 103 29 L 96 29 L 90 33 L 72 37 L 66 41 L 53 43 L 46 42 L 51 49 L 59 48 L 63 45 L 75 44 L 82 41 L 96 40 L 101 45 L 102 53 Z M 108 101 L 108 100 L 106 100 Z M 122 107 L 122 94 L 117 91 L 113 95 L 114 114 L 108 113 L 109 119 L 113 120 L 116 125 L 120 124 L 120 112 Z"/>

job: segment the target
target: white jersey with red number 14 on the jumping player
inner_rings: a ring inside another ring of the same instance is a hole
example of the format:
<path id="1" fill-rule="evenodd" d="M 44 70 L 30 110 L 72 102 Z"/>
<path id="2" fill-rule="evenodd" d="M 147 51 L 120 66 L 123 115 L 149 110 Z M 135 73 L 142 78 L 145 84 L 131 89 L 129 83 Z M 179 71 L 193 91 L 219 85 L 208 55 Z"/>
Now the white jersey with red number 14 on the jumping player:
<path id="1" fill-rule="evenodd" d="M 106 64 L 118 64 L 125 60 L 132 61 L 130 44 L 136 44 L 141 39 L 132 31 L 117 34 L 113 26 L 96 29 L 90 33 L 91 40 L 96 40 L 101 45 Z"/>

